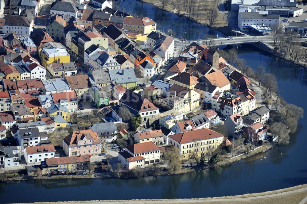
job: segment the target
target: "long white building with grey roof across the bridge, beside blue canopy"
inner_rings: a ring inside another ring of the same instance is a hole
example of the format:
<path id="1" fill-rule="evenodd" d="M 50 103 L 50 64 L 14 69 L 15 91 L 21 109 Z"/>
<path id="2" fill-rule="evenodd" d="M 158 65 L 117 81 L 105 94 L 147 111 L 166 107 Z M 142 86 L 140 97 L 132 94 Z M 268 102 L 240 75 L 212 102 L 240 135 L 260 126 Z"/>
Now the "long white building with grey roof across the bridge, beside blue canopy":
<path id="1" fill-rule="evenodd" d="M 260 14 L 259 12 L 241 12 L 238 15 L 238 27 L 240 30 L 258 29 L 258 26 L 274 24 L 279 25 L 279 15 Z"/>

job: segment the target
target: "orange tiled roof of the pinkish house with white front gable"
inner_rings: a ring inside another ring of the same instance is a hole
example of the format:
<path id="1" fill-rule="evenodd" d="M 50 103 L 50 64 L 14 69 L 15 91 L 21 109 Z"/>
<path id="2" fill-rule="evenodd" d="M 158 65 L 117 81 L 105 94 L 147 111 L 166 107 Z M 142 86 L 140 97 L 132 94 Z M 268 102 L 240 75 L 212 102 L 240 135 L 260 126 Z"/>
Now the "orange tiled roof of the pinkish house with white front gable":
<path id="1" fill-rule="evenodd" d="M 92 140 L 92 143 L 100 143 L 98 134 L 91 129 L 73 131 L 68 136 L 64 137 L 63 141 L 70 147 L 77 146 L 78 141 L 84 140 L 85 138 Z"/>

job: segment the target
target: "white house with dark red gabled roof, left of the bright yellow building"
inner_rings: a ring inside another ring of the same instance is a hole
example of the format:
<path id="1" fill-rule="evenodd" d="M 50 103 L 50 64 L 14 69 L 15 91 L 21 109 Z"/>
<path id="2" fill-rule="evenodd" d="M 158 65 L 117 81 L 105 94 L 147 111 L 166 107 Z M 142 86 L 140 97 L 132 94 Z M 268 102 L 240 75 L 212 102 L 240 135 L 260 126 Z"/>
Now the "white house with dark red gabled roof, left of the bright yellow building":
<path id="1" fill-rule="evenodd" d="M 46 79 L 46 69 L 40 63 L 30 56 L 22 58 L 22 64 L 27 67 L 31 73 L 31 79 Z"/>

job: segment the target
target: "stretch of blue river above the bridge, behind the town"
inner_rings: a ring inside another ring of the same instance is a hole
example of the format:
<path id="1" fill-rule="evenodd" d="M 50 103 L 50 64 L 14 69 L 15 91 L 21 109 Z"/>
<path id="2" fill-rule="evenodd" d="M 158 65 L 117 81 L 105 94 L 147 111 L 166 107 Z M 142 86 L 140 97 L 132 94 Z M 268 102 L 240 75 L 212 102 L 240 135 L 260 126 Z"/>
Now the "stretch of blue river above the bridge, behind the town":
<path id="1" fill-rule="evenodd" d="M 171 30 L 169 34 L 177 38 L 196 40 L 198 39 L 198 33 L 200 33 L 200 39 L 204 39 L 208 34 L 215 37 L 226 36 L 224 33 L 210 29 L 206 25 L 187 20 L 171 12 L 162 11 L 157 6 L 137 0 L 113 1 L 113 8 L 129 13 L 134 17 L 150 17 L 157 23 L 158 30 L 167 33 L 169 29 Z M 185 32 L 187 32 L 187 36 L 185 36 Z"/>

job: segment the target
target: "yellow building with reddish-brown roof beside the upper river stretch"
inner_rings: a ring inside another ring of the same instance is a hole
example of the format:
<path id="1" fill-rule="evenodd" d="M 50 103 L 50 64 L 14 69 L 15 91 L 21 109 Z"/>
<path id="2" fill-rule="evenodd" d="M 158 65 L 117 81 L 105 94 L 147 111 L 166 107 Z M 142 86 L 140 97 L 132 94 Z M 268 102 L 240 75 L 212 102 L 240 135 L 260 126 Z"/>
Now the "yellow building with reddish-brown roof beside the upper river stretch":
<path id="1" fill-rule="evenodd" d="M 123 29 L 128 30 L 128 33 L 148 34 L 151 33 L 151 31 L 157 30 L 157 23 L 149 17 L 126 17 Z"/>

